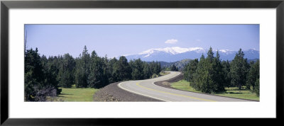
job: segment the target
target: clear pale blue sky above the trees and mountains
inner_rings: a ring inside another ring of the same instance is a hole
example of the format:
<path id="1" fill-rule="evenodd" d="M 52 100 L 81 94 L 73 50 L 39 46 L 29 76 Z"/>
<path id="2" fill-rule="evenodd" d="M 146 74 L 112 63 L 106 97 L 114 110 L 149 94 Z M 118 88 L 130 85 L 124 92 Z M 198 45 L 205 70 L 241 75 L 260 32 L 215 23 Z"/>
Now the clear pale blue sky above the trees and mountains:
<path id="1" fill-rule="evenodd" d="M 116 57 L 163 47 L 259 50 L 259 25 L 25 25 L 27 47 L 40 55 Z"/>

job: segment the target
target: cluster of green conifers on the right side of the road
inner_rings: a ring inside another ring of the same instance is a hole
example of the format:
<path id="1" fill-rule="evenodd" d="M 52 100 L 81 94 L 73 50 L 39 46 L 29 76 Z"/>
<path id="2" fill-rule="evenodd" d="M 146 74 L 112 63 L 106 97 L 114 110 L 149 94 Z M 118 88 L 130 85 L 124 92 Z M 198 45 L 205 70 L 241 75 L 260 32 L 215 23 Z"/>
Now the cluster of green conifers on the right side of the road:
<path id="1" fill-rule="evenodd" d="M 190 86 L 203 93 L 225 91 L 225 87 L 238 87 L 241 90 L 245 86 L 259 96 L 259 59 L 248 62 L 241 49 L 229 62 L 220 59 L 219 51 L 214 57 L 210 47 L 207 57 L 202 54 L 200 60 L 191 60 L 183 72 Z"/>

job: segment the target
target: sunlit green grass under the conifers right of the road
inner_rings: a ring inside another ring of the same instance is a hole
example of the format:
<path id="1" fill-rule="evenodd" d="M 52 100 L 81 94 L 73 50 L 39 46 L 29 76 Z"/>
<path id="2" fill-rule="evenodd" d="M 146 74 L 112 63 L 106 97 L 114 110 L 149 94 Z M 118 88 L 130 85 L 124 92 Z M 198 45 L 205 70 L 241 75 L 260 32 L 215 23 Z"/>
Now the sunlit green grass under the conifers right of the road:
<path id="1" fill-rule="evenodd" d="M 185 80 L 180 80 L 178 82 L 171 84 L 170 86 L 173 88 L 178 88 L 180 90 L 202 93 L 201 91 L 196 91 L 194 88 L 192 88 L 190 86 L 190 82 L 185 81 Z M 259 97 L 256 96 L 256 93 L 254 93 L 253 91 L 239 90 L 239 88 L 236 88 L 236 87 L 225 88 L 225 89 L 226 91 L 221 92 L 221 93 L 215 93 L 214 95 L 259 101 Z"/>

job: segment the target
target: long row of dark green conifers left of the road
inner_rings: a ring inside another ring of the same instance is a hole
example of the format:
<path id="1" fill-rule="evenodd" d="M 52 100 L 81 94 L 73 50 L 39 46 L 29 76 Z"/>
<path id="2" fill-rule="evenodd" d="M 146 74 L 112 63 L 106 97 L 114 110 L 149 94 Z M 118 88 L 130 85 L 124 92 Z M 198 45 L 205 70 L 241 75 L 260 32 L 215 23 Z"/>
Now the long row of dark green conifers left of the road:
<path id="1" fill-rule="evenodd" d="M 149 79 L 161 71 L 160 62 L 99 57 L 84 46 L 79 57 L 70 54 L 40 57 L 38 48 L 25 50 L 25 101 L 45 101 L 62 88 L 102 88 L 118 81 Z"/>

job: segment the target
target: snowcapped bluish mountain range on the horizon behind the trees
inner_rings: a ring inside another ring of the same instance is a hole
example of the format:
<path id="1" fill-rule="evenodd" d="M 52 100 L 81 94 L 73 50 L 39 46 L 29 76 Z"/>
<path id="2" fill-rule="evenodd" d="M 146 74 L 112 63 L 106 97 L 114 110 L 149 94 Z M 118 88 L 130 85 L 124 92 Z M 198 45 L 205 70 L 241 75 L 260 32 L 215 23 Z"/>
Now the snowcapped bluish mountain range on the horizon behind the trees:
<path id="1" fill-rule="evenodd" d="M 182 59 L 200 59 L 203 54 L 207 57 L 207 51 L 202 47 L 165 47 L 165 48 L 155 48 L 143 51 L 136 55 L 124 55 L 127 59 L 138 59 L 140 58 L 143 61 L 163 61 L 163 62 L 177 62 Z M 217 50 L 214 50 L 214 55 Z M 219 54 L 222 60 L 232 60 L 234 59 L 238 51 L 233 50 L 219 50 Z M 258 50 L 244 50 L 245 58 L 248 59 L 259 59 Z"/>

